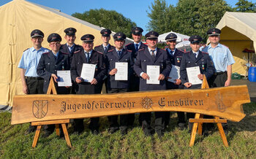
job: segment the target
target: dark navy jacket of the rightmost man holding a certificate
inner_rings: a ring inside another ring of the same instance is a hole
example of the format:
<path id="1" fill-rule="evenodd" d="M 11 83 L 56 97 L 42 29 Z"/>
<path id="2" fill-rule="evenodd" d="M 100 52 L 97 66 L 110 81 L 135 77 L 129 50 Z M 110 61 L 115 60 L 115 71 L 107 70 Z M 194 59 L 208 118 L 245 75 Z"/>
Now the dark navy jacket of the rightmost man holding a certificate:
<path id="1" fill-rule="evenodd" d="M 186 68 L 199 66 L 200 73 L 205 74 L 207 80 L 214 74 L 214 63 L 211 61 L 208 53 L 203 53 L 199 50 L 197 58 L 192 51 L 188 53 L 184 53 L 182 61 L 181 61 L 181 82 L 184 84 L 185 82 L 189 82 L 187 77 Z"/>

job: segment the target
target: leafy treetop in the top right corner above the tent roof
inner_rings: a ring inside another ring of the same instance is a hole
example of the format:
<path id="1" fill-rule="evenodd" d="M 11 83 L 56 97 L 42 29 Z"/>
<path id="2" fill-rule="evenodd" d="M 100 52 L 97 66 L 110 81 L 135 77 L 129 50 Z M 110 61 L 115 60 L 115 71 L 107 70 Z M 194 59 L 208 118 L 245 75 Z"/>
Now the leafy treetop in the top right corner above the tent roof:
<path id="1" fill-rule="evenodd" d="M 236 6 L 233 8 L 236 12 L 256 12 L 256 3 L 254 4 L 251 1 L 238 0 Z"/>

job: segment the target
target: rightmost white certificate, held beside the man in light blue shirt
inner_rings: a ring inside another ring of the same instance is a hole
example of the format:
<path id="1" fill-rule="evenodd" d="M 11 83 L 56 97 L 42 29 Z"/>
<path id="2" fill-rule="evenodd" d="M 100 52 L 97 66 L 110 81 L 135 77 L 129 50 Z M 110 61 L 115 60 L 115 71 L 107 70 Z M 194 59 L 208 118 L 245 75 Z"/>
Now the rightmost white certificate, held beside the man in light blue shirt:
<path id="1" fill-rule="evenodd" d="M 192 85 L 202 84 L 202 80 L 199 80 L 199 78 L 197 77 L 198 74 L 201 74 L 199 66 L 189 67 L 186 68 L 186 70 L 187 77 L 189 78 L 189 82 L 192 83 Z"/>

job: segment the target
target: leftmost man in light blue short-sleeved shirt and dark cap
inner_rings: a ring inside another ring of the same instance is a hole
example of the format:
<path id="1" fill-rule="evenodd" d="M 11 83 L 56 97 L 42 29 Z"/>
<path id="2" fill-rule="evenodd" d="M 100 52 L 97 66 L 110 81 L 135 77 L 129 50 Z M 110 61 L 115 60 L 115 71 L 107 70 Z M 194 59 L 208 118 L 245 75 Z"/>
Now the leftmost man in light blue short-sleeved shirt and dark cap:
<path id="1" fill-rule="evenodd" d="M 31 32 L 33 47 L 23 52 L 18 65 L 18 68 L 21 69 L 20 78 L 25 94 L 43 94 L 44 80 L 37 75 L 37 65 L 42 53 L 49 52 L 48 49 L 42 47 L 43 37 L 44 34 L 38 29 Z M 27 133 L 35 131 L 35 128 L 30 125 Z"/>

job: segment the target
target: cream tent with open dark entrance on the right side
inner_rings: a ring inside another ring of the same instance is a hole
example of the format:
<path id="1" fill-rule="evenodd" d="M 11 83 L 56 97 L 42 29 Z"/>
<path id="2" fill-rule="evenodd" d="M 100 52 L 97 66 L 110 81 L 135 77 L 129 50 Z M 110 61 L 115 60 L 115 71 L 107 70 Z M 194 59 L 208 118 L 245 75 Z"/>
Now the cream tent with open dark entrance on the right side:
<path id="1" fill-rule="evenodd" d="M 245 48 L 255 50 L 256 47 L 256 13 L 251 12 L 225 12 L 219 21 L 217 28 L 222 31 L 220 43 L 229 47 L 236 63 L 232 71 L 238 74 L 246 74 L 246 66 L 243 53 Z M 209 42 L 209 41 L 208 41 Z"/>

